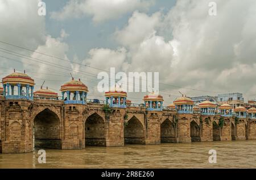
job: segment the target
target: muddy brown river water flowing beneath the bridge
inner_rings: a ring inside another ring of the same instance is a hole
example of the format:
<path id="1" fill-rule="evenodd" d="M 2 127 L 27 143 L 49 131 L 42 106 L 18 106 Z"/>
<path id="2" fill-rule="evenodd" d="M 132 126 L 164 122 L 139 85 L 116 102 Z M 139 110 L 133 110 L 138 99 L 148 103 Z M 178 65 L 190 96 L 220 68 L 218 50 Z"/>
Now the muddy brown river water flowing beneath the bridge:
<path id="1" fill-rule="evenodd" d="M 210 149 L 217 164 L 208 162 Z M 0 168 L 256 168 L 256 141 L 46 149 L 46 164 L 37 151 L 0 154 Z"/>

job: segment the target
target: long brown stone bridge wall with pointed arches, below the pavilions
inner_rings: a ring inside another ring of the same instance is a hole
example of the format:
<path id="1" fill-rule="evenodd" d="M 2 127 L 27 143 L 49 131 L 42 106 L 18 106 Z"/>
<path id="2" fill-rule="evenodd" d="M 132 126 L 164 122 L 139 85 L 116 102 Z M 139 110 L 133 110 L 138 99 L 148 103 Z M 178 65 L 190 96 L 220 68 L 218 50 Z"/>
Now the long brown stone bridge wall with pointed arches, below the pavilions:
<path id="1" fill-rule="evenodd" d="M 147 111 L 144 107 L 112 108 L 108 115 L 104 104 L 64 104 L 49 99 L 0 97 L 0 103 L 1 153 L 256 139 L 256 120 L 248 118 Z"/>

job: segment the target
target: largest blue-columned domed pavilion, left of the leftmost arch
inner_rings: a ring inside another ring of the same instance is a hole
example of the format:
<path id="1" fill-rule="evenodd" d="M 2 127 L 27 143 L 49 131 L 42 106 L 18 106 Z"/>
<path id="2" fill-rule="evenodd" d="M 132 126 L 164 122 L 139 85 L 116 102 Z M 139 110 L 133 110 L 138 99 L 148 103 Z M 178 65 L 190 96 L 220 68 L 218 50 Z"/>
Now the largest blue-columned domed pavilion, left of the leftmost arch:
<path id="1" fill-rule="evenodd" d="M 3 83 L 3 95 L 6 99 L 27 99 L 33 100 L 34 91 L 34 79 L 27 76 L 25 73 L 14 73 L 4 77 Z M 23 90 L 23 88 L 25 88 Z M 17 89 L 16 92 L 15 89 Z"/>

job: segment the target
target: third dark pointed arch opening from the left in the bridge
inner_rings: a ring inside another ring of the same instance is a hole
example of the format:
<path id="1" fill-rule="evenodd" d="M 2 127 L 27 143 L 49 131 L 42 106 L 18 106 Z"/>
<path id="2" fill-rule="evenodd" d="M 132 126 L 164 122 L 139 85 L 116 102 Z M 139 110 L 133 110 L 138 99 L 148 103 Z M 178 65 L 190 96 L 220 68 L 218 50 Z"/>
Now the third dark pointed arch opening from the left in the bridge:
<path id="1" fill-rule="evenodd" d="M 145 144 L 143 124 L 135 116 L 125 125 L 124 137 L 126 144 Z"/>

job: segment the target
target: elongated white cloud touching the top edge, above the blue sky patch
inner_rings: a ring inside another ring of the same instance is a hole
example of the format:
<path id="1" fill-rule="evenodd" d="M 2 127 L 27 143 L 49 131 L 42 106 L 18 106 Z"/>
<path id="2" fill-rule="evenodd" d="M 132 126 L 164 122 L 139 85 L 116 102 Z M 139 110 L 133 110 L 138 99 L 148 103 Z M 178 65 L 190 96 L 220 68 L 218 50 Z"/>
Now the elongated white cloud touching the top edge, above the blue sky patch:
<path id="1" fill-rule="evenodd" d="M 134 10 L 147 10 L 153 4 L 154 0 L 75 0 L 69 1 L 62 10 L 52 12 L 51 18 L 65 20 L 90 15 L 94 22 L 103 22 Z"/>

